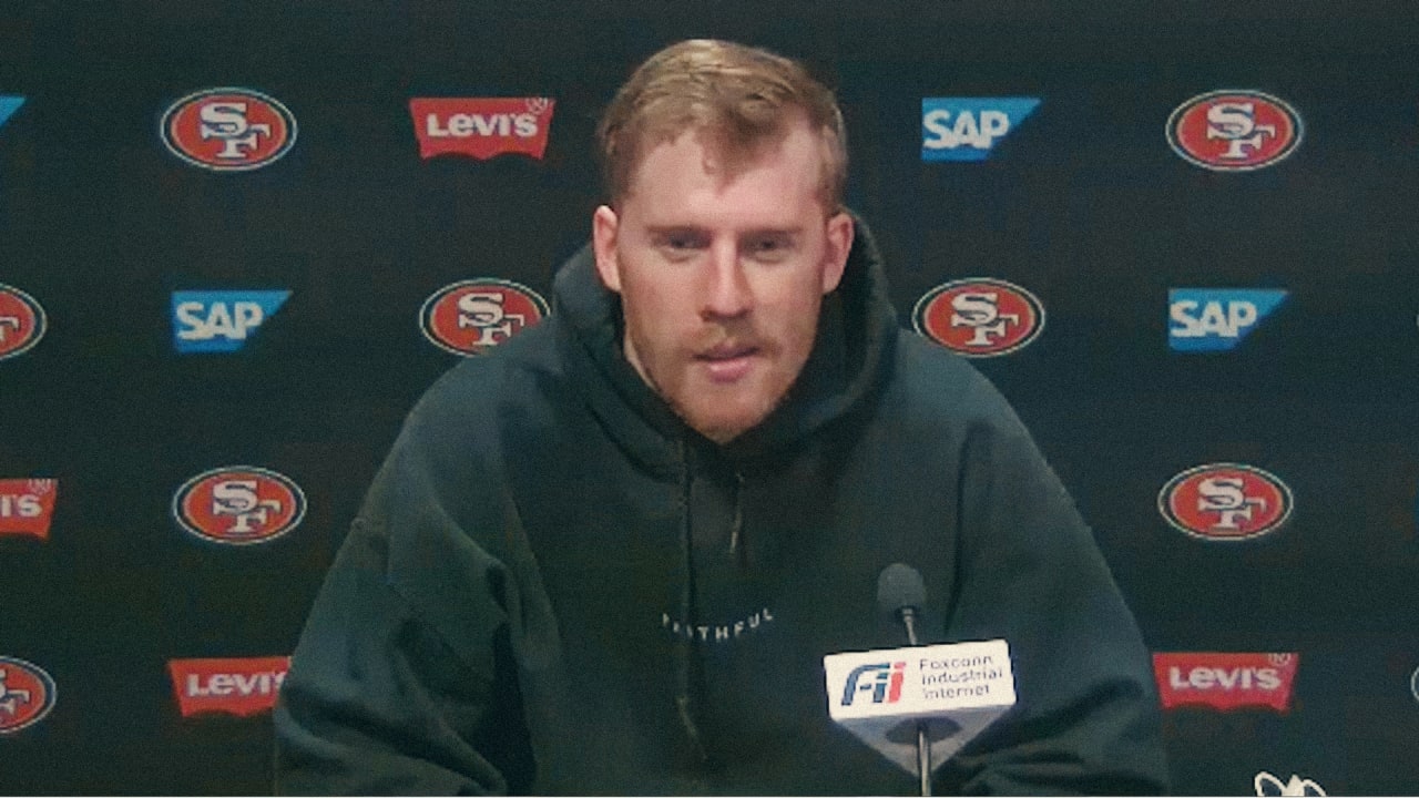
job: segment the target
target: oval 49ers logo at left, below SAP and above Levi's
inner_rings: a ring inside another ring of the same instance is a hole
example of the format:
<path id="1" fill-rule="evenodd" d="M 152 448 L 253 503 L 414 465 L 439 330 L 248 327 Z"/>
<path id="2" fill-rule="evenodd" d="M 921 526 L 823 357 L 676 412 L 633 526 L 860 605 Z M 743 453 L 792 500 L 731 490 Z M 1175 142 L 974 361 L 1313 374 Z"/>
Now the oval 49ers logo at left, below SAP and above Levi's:
<path id="1" fill-rule="evenodd" d="M 173 496 L 173 518 L 183 530 L 223 544 L 268 542 L 294 530 L 304 517 L 299 486 L 254 466 L 204 471 Z"/>

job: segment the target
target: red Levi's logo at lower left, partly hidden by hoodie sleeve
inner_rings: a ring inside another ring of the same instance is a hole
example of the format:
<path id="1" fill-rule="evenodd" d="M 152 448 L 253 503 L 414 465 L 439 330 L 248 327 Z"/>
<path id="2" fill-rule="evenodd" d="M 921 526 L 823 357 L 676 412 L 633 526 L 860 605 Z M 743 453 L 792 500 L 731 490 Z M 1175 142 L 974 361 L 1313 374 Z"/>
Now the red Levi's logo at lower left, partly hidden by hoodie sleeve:
<path id="1" fill-rule="evenodd" d="M 204 713 L 245 717 L 271 711 L 289 667 L 288 656 L 167 662 L 183 717 Z"/>

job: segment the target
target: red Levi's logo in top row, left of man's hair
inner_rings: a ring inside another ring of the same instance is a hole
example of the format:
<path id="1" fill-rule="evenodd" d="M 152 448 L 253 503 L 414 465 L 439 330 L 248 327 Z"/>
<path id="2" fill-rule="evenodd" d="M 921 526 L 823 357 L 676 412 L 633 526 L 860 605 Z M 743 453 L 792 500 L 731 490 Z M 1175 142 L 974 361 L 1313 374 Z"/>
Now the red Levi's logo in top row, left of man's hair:
<path id="1" fill-rule="evenodd" d="M 545 97 L 416 98 L 409 114 L 423 159 L 519 153 L 541 160 L 555 105 Z"/>

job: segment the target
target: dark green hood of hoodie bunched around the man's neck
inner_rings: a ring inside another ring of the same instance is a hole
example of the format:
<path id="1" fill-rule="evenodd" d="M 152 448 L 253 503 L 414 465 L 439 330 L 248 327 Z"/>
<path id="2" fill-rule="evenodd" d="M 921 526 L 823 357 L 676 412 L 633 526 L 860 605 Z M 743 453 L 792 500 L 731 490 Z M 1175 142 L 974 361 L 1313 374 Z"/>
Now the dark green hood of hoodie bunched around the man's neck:
<path id="1" fill-rule="evenodd" d="M 721 447 L 731 460 L 779 450 L 860 412 L 891 368 L 897 312 L 887 294 L 877 244 L 854 214 L 853 248 L 837 288 L 823 297 L 813 351 L 788 396 L 758 426 Z M 553 315 L 559 346 L 586 386 L 592 412 L 617 443 L 656 471 L 678 469 L 681 442 L 712 446 L 685 425 L 636 372 L 622 349 L 620 297 L 596 273 L 592 246 L 558 271 Z"/>

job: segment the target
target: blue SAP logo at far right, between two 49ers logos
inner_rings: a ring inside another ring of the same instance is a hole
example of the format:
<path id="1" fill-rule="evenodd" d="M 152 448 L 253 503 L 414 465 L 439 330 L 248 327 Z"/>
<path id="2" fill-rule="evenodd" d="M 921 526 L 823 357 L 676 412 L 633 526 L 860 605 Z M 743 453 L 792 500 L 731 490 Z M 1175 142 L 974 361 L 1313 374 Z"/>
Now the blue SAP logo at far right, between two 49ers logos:
<path id="1" fill-rule="evenodd" d="M 1171 288 L 1168 345 L 1176 352 L 1232 349 L 1286 295 L 1280 288 Z"/>

